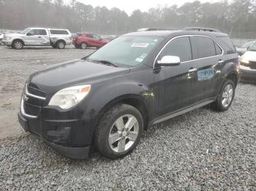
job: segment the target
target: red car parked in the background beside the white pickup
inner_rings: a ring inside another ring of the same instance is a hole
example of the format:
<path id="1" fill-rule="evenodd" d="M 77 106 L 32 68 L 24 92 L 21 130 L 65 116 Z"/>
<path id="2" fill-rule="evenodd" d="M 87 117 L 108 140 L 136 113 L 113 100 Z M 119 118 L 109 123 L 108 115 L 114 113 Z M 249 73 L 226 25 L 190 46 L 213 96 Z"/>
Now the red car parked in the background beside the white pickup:
<path id="1" fill-rule="evenodd" d="M 102 39 L 97 34 L 89 33 L 78 33 L 73 38 L 73 44 L 76 48 L 86 49 L 87 47 L 102 47 L 109 41 L 107 39 Z"/>

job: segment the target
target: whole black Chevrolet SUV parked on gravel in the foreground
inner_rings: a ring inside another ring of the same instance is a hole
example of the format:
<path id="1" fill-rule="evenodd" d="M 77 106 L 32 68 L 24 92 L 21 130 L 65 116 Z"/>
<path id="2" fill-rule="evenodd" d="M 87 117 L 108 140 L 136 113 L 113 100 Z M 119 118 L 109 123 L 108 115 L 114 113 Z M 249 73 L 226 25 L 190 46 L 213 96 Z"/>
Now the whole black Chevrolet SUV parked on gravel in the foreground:
<path id="1" fill-rule="evenodd" d="M 20 124 L 72 158 L 124 157 L 150 125 L 206 104 L 227 110 L 240 79 L 227 34 L 145 31 L 31 74 Z"/>

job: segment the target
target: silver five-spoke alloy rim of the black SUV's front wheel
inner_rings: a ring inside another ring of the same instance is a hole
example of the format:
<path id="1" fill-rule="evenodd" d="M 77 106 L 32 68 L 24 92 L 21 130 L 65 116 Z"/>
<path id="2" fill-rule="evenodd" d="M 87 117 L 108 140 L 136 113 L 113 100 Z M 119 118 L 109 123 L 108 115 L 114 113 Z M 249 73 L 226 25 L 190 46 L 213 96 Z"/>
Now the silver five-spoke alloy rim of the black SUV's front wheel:
<path id="1" fill-rule="evenodd" d="M 125 114 L 114 122 L 108 136 L 108 144 L 113 152 L 125 152 L 138 138 L 139 123 L 135 116 Z"/>

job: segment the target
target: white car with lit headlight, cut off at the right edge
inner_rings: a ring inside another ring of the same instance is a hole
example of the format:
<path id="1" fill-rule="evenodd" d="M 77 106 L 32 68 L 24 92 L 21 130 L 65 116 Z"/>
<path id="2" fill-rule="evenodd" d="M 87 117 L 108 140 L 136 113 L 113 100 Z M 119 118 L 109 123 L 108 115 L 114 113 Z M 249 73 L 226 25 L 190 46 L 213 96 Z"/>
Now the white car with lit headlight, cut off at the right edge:
<path id="1" fill-rule="evenodd" d="M 241 56 L 241 78 L 244 81 L 256 82 L 256 42 Z"/>

